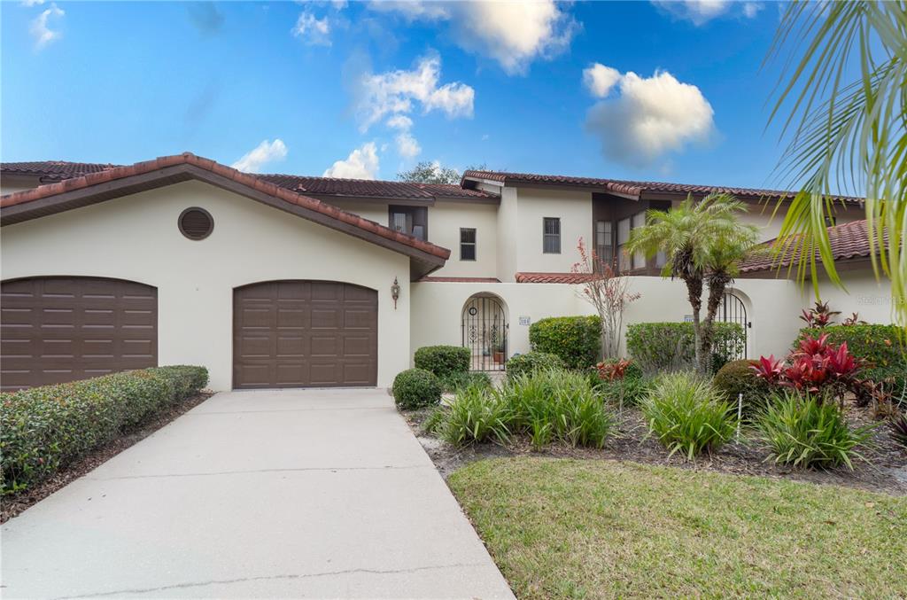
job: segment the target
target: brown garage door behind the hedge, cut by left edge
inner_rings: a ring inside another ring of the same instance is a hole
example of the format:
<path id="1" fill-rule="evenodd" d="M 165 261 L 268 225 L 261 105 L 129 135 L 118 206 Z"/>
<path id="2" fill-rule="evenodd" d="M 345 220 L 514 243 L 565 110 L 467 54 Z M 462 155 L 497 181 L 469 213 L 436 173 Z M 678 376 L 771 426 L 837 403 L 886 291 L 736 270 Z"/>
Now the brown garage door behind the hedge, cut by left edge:
<path id="1" fill-rule="evenodd" d="M 0 284 L 0 387 L 21 389 L 158 364 L 158 290 L 46 277 Z"/>

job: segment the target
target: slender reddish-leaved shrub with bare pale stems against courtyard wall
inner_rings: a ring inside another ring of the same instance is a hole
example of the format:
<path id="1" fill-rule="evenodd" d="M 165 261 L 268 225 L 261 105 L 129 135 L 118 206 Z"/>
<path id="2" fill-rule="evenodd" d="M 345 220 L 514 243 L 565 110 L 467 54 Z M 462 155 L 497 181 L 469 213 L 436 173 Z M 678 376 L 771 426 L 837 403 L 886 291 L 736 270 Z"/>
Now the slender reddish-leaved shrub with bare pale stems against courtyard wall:
<path id="1" fill-rule="evenodd" d="M 602 260 L 594 250 L 587 250 L 580 238 L 577 244 L 580 261 L 573 264 L 571 273 L 582 276 L 580 298 L 595 307 L 601 318 L 601 356 L 618 356 L 623 311 L 630 302 L 639 300 L 639 293 L 629 291 L 629 278 L 619 277 L 612 265 Z"/>

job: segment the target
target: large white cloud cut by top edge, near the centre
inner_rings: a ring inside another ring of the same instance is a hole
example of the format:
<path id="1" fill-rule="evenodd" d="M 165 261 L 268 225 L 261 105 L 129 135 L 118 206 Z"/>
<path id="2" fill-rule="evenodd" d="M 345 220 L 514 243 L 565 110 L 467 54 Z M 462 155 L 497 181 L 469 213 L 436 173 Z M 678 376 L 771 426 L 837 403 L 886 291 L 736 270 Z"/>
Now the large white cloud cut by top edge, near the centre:
<path id="1" fill-rule="evenodd" d="M 448 21 L 464 49 L 491 57 L 507 74 L 523 74 L 537 58 L 564 50 L 579 28 L 554 0 L 500 2 L 373 2 L 407 20 Z"/>

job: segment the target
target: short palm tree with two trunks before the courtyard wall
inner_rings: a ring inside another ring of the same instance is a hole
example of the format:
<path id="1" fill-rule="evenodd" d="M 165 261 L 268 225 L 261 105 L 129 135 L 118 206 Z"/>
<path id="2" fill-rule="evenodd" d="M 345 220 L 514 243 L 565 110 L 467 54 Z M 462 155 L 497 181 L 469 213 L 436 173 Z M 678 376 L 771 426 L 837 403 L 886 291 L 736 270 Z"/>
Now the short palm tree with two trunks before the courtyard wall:
<path id="1" fill-rule="evenodd" d="M 629 253 L 641 251 L 651 258 L 663 251 L 668 261 L 661 275 L 687 285 L 696 366 L 702 373 L 710 367 L 715 317 L 725 289 L 737 274 L 737 263 L 756 243 L 756 227 L 740 222 L 739 215 L 744 211 L 743 202 L 725 193 L 709 194 L 701 202 L 688 197 L 668 211 L 648 211 L 647 224 L 630 231 Z M 702 320 L 706 285 L 706 319 Z"/>

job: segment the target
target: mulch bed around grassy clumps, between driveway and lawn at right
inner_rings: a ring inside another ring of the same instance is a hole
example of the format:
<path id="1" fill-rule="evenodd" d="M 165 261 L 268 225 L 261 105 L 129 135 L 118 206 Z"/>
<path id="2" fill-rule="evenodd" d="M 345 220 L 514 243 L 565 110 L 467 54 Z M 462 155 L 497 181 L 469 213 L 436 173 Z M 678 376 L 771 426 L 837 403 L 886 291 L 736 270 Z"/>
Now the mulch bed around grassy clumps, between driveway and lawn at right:
<path id="1" fill-rule="evenodd" d="M 775 465 L 774 462 L 766 460 L 768 453 L 765 448 L 761 448 L 755 441 L 747 441 L 746 438 L 742 438 L 741 443 L 727 444 L 711 456 L 697 457 L 695 461 L 687 461 L 678 454 L 668 458 L 668 451 L 656 438 L 646 438 L 648 430 L 646 422 L 636 408 L 623 410 L 614 433 L 605 448 L 600 450 L 555 444 L 537 451 L 532 449 L 527 439 L 516 439 L 506 446 L 479 444 L 453 448 L 443 440 L 424 433 L 421 423 L 427 414 L 426 411 L 413 411 L 404 413 L 404 417 L 444 478 L 458 468 L 483 458 L 569 457 L 626 460 L 734 475 L 792 479 L 907 496 L 907 448 L 903 448 L 889 435 L 889 430 L 883 422 L 877 422 L 879 427 L 875 431 L 871 448 L 863 449 L 863 456 L 869 463 L 857 460 L 853 463 L 853 471 L 850 471 L 846 468 L 813 470 Z M 869 421 L 864 408 L 851 408 L 848 410 L 848 418 L 854 424 Z"/>

